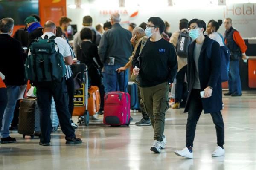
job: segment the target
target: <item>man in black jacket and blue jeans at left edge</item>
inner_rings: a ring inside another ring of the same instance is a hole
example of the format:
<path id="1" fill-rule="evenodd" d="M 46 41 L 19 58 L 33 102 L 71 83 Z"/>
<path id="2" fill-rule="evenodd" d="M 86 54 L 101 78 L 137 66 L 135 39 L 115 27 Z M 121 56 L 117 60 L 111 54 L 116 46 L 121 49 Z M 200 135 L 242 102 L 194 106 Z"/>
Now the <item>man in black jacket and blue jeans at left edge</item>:
<path id="1" fill-rule="evenodd" d="M 0 72 L 5 75 L 4 83 L 7 87 L 7 107 L 3 115 L 1 128 L 1 143 L 14 143 L 9 127 L 12 122 L 15 104 L 18 99 L 20 86 L 25 84 L 24 53 L 18 40 L 11 37 L 14 21 L 12 18 L 0 20 Z"/>

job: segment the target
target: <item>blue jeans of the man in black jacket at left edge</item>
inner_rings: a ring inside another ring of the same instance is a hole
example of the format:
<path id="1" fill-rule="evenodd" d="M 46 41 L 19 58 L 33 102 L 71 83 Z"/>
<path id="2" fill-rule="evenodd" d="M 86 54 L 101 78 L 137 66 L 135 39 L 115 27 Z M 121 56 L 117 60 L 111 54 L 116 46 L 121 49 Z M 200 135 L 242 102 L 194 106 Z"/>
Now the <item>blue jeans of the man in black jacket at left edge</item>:
<path id="1" fill-rule="evenodd" d="M 13 112 L 19 96 L 20 86 L 7 86 L 7 106 L 3 114 L 3 126 L 1 128 L 1 138 L 10 135 L 9 127 L 12 123 Z"/>

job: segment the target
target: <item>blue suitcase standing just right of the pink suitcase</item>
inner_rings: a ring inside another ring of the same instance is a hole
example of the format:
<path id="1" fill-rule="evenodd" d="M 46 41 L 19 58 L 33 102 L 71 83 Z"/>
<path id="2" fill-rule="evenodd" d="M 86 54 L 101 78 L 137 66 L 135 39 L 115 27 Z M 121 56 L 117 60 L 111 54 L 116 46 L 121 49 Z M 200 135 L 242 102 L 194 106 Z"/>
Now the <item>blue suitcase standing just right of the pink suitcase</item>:
<path id="1" fill-rule="evenodd" d="M 138 96 L 138 85 L 134 82 L 128 82 L 128 93 L 131 96 L 131 110 L 139 110 L 140 100 Z"/>

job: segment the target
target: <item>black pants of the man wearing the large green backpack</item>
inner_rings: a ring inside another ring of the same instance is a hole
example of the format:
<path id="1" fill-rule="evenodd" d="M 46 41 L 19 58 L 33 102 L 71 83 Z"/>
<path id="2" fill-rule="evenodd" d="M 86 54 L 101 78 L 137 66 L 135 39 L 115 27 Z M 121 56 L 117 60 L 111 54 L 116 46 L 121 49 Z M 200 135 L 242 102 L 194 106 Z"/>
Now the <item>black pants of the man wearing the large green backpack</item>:
<path id="1" fill-rule="evenodd" d="M 55 101 L 56 111 L 62 132 L 66 137 L 75 137 L 75 130 L 71 126 L 70 112 L 68 109 L 69 97 L 64 79 L 61 83 L 47 87 L 37 87 L 37 100 L 41 115 L 41 142 L 50 142 L 52 132 L 51 102 L 52 96 Z"/>

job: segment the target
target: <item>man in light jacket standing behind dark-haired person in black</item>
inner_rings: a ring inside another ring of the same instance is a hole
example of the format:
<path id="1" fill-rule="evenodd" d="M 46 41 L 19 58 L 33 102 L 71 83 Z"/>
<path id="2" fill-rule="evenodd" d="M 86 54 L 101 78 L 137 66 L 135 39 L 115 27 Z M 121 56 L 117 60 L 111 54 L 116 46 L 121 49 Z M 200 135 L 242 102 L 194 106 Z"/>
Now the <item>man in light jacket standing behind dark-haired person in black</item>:
<path id="1" fill-rule="evenodd" d="M 92 42 L 96 45 L 99 46 L 99 41 L 101 40 L 101 34 L 99 32 L 96 31 L 96 29 L 94 27 L 92 27 L 93 25 L 93 18 L 91 16 L 85 16 L 83 18 L 83 28 L 89 28 L 90 30 L 92 30 L 93 32 L 93 38 L 92 38 Z M 73 47 L 74 47 L 74 52 L 75 55 L 77 56 L 77 47 L 82 43 L 81 40 L 81 33 L 77 32 L 74 35 L 74 42 L 73 42 Z"/>

